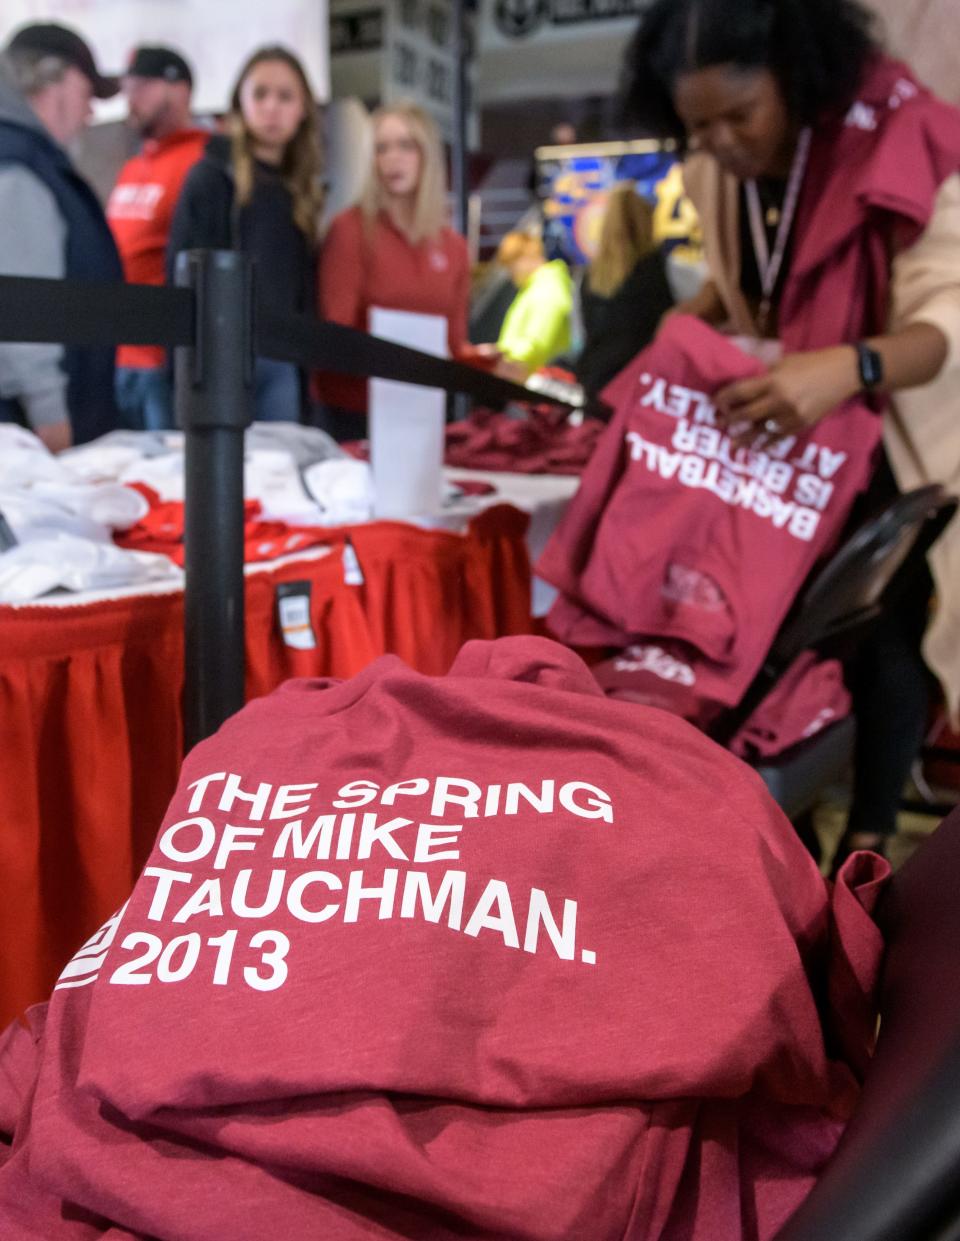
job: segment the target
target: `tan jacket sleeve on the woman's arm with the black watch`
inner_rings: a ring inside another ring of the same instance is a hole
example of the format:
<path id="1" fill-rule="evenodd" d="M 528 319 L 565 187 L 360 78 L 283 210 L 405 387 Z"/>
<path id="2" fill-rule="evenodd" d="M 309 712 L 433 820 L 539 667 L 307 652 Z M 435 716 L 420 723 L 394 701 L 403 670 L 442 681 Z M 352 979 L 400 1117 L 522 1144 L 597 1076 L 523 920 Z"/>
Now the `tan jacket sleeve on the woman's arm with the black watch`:
<path id="1" fill-rule="evenodd" d="M 940 186 L 918 241 L 893 261 L 891 329 L 929 323 L 946 336 L 944 370 L 960 364 L 960 174 Z"/>

